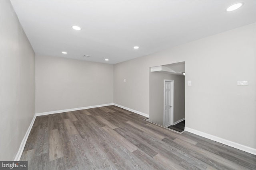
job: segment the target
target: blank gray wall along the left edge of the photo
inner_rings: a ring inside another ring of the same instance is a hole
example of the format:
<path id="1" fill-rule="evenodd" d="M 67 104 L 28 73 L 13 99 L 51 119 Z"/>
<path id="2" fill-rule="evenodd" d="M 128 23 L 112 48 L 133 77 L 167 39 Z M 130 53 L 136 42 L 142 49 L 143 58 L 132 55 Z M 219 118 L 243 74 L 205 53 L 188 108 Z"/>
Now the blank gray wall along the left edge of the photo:
<path id="1" fill-rule="evenodd" d="M 35 114 L 35 53 L 6 0 L 0 37 L 0 160 L 14 160 Z"/>

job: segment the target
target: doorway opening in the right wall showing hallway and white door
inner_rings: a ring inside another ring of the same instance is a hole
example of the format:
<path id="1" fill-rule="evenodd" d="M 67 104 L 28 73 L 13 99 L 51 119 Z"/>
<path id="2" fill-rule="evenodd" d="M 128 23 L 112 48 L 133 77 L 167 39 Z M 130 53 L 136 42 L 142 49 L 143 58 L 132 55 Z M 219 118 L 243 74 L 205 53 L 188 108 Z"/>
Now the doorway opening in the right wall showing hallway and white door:
<path id="1" fill-rule="evenodd" d="M 167 129 L 185 120 L 185 62 L 150 67 L 147 121 Z M 171 85 L 173 84 L 173 86 Z M 167 90 L 170 88 L 170 90 Z M 173 98 L 171 96 L 173 95 Z M 168 98 L 170 96 L 170 98 Z M 184 126 L 184 124 L 183 124 Z M 184 128 L 183 128 L 184 129 Z M 170 129 L 176 131 L 176 129 Z M 176 131 L 177 133 L 180 133 Z"/>

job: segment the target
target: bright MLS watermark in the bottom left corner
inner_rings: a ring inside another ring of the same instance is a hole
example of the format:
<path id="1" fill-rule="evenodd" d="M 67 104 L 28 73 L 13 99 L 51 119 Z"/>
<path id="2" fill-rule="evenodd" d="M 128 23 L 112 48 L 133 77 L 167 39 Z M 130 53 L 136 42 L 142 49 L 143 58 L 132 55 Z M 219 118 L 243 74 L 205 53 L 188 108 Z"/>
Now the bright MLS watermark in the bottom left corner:
<path id="1" fill-rule="evenodd" d="M 0 161 L 0 170 L 28 170 L 28 161 Z"/>

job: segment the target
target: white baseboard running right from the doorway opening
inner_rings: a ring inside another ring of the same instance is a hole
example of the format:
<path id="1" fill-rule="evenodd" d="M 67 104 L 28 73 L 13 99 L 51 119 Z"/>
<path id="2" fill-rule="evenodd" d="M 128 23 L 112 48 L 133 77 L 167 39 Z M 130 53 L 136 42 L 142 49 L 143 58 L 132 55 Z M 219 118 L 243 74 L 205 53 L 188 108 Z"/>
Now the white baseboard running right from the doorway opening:
<path id="1" fill-rule="evenodd" d="M 232 142 L 232 141 L 228 141 L 226 139 L 222 139 L 220 137 L 216 137 L 216 136 L 213 136 L 213 135 L 201 132 L 201 131 L 197 131 L 197 130 L 191 129 L 189 127 L 185 127 L 185 131 L 188 131 L 190 133 L 194 133 L 194 134 L 199 135 L 201 137 L 205 137 L 207 139 L 211 139 L 213 141 L 216 141 L 216 142 L 228 145 L 230 147 L 233 147 L 233 148 L 236 148 L 236 149 L 239 149 L 239 150 L 243 150 L 245 152 L 248 152 L 248 153 L 256 155 L 256 149 L 254 149 L 254 148 L 247 147 L 245 145 L 241 145 L 239 143 L 235 143 L 235 142 Z"/>

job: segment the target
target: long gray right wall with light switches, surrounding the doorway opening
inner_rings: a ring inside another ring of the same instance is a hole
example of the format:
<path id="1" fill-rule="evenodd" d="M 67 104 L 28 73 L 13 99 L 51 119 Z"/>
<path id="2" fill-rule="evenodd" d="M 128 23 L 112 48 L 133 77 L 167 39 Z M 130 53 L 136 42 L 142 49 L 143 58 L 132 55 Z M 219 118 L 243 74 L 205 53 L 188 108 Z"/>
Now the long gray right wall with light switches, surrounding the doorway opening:
<path id="1" fill-rule="evenodd" d="M 185 61 L 186 127 L 256 148 L 255 40 L 254 23 L 115 64 L 114 103 L 149 114 L 149 68 Z"/>

